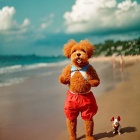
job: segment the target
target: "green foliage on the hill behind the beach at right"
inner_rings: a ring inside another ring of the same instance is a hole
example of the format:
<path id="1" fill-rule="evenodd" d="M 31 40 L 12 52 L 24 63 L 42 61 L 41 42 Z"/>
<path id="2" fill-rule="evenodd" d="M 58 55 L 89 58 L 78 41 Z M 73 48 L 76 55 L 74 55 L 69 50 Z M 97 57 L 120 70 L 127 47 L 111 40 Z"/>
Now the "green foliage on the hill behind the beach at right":
<path id="1" fill-rule="evenodd" d="M 94 56 L 136 55 L 140 54 L 140 37 L 128 41 L 106 40 L 95 45 Z"/>

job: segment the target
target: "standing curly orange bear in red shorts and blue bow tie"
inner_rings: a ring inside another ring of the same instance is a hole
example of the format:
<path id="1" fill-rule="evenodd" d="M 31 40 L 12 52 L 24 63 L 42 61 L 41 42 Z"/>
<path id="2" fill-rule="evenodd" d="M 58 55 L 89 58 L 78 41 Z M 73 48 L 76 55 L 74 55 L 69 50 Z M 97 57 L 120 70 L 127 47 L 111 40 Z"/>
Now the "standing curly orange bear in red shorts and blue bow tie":
<path id="1" fill-rule="evenodd" d="M 62 84 L 69 86 L 65 101 L 64 112 L 67 118 L 69 140 L 76 140 L 77 117 L 81 113 L 85 121 L 86 140 L 94 140 L 93 116 L 98 110 L 91 87 L 96 87 L 100 79 L 88 59 L 93 55 L 94 46 L 88 40 L 79 43 L 70 40 L 64 46 L 64 55 L 71 58 L 59 77 Z"/>

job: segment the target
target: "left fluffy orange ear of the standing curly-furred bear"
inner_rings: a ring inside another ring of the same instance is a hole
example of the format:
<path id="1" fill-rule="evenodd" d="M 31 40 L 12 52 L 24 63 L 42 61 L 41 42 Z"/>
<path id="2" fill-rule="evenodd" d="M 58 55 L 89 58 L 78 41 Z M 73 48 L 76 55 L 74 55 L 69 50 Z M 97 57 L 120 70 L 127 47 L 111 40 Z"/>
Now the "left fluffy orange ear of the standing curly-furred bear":
<path id="1" fill-rule="evenodd" d="M 64 45 L 64 55 L 67 57 L 67 58 L 70 58 L 71 57 L 71 49 L 72 47 L 77 44 L 74 40 L 70 40 L 67 44 Z"/>

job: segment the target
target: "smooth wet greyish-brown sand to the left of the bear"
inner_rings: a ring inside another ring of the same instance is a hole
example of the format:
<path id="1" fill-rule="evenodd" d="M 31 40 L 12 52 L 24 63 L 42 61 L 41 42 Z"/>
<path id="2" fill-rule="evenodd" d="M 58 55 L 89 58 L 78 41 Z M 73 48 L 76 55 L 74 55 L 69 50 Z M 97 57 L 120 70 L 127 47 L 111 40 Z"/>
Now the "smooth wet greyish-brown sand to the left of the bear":
<path id="1" fill-rule="evenodd" d="M 0 140 L 52 140 L 65 128 L 66 89 L 57 77 L 33 77 L 0 88 Z"/>

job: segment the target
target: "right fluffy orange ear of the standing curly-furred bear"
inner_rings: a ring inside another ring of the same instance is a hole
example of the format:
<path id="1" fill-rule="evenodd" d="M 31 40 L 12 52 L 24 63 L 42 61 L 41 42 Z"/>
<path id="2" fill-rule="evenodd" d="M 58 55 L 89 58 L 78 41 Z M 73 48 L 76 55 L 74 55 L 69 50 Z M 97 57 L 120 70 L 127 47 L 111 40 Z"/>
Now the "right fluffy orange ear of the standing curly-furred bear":
<path id="1" fill-rule="evenodd" d="M 80 44 L 86 48 L 88 58 L 90 58 L 94 53 L 94 45 L 88 40 L 81 40 Z"/>

